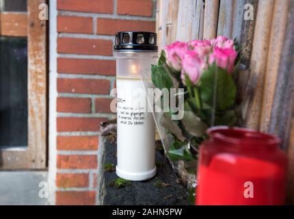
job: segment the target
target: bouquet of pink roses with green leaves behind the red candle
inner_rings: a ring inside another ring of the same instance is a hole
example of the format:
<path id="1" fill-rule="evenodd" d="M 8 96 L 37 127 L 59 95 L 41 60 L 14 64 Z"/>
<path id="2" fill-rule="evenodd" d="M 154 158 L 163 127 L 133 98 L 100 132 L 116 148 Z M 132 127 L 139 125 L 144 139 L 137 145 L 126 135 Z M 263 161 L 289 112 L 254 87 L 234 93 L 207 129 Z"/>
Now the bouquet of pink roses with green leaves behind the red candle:
<path id="1" fill-rule="evenodd" d="M 237 43 L 223 36 L 174 42 L 164 48 L 158 64 L 152 66 L 152 82 L 159 89 L 184 89 L 175 94 L 183 95 L 183 118 L 172 120 L 172 110 L 159 118 L 172 138 L 167 151 L 172 161 L 196 160 L 198 146 L 206 139 L 209 127 L 239 123 L 235 82 L 238 65 Z"/>

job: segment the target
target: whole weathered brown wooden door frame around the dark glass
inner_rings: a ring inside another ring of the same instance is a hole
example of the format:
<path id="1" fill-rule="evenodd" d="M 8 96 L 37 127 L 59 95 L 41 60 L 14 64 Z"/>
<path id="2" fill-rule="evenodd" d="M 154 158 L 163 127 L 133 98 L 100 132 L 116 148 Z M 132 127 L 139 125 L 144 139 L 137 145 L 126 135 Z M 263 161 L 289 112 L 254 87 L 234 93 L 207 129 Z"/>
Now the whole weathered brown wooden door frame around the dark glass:
<path id="1" fill-rule="evenodd" d="M 47 158 L 47 21 L 39 19 L 39 5 L 27 0 L 27 12 L 0 12 L 1 36 L 27 36 L 28 146 L 0 150 L 0 170 L 44 169 Z"/>

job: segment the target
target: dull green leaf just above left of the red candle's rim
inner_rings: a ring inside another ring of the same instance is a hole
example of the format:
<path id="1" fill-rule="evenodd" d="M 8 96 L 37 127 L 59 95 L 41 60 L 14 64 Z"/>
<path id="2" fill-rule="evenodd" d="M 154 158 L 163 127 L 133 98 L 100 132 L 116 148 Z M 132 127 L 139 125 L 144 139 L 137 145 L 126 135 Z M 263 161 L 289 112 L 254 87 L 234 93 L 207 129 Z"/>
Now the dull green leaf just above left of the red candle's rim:
<path id="1" fill-rule="evenodd" d="M 202 123 L 201 119 L 193 114 L 191 111 L 184 112 L 184 118 L 181 120 L 185 129 L 192 135 L 196 137 L 202 137 L 205 134 L 207 126 Z"/>

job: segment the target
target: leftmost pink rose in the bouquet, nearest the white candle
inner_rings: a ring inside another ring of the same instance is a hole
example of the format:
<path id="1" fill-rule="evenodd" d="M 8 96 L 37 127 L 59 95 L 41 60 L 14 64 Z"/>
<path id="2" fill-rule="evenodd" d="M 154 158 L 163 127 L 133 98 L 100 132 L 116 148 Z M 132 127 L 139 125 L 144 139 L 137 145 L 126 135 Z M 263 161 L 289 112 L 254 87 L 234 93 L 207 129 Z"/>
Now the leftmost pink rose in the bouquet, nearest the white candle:
<path id="1" fill-rule="evenodd" d="M 174 70 L 180 71 L 182 69 L 182 60 L 185 53 L 189 50 L 187 43 L 176 41 L 165 47 L 165 54 L 168 63 Z"/>

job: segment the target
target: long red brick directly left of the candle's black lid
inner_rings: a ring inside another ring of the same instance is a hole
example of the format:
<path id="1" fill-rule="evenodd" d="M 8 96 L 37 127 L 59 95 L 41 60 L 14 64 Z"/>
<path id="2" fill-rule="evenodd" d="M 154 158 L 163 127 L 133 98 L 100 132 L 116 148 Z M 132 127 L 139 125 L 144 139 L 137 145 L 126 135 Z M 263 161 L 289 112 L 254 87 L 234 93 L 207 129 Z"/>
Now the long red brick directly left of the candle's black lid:
<path id="1" fill-rule="evenodd" d="M 83 55 L 112 55 L 112 41 L 63 37 L 57 40 L 57 52 Z"/>

